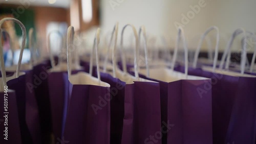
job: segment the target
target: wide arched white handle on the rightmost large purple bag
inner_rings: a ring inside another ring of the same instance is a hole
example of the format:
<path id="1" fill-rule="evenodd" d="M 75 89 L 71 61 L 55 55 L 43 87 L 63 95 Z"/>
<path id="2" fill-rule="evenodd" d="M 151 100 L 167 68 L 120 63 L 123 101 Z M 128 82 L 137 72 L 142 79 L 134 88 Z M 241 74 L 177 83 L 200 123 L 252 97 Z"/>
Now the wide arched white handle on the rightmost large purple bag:
<path id="1" fill-rule="evenodd" d="M 224 65 L 224 61 L 225 61 L 226 57 L 227 57 L 227 61 L 226 61 L 225 68 L 229 67 L 229 61 L 230 61 L 230 57 L 231 57 L 231 46 L 233 44 L 233 40 L 234 40 L 234 38 L 236 38 L 237 35 L 239 35 L 241 33 L 243 33 L 243 35 L 245 37 L 245 41 L 247 40 L 246 31 L 243 28 L 239 28 L 233 32 L 231 38 L 229 39 L 228 45 L 222 55 L 221 63 L 220 63 L 220 67 L 219 67 L 220 70 L 223 69 L 223 65 Z M 246 42 L 244 42 L 242 53 L 241 53 L 241 57 L 242 57 L 241 64 L 240 64 L 241 74 L 244 74 L 244 71 L 245 71 L 246 55 L 247 55 L 246 45 L 247 45 Z"/>

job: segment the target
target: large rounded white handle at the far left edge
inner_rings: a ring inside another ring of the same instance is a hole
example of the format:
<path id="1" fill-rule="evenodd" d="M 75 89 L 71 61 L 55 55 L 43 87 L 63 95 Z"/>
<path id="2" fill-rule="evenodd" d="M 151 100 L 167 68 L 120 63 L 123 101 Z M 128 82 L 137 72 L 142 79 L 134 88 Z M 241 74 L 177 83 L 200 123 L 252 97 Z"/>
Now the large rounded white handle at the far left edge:
<path id="1" fill-rule="evenodd" d="M 26 28 L 25 26 L 23 25 L 22 22 L 20 22 L 19 20 L 15 19 L 15 18 L 11 18 L 11 17 L 8 17 L 8 18 L 3 18 L 2 20 L 0 20 L 0 28 L 2 27 L 3 23 L 5 21 L 8 21 L 8 20 L 11 20 L 11 21 L 14 21 L 16 22 L 19 27 L 22 29 L 22 45 L 20 46 L 20 53 L 19 53 L 19 59 L 18 59 L 18 65 L 17 65 L 17 69 L 16 69 L 16 78 L 19 77 L 19 69 L 20 69 L 20 64 L 22 64 L 22 56 L 23 56 L 23 50 L 25 48 L 25 44 L 26 44 L 26 36 L 27 36 L 27 33 L 26 33 Z M 1 30 L 1 36 L 0 36 L 0 39 L 2 38 L 2 30 Z M 1 66 L 1 74 L 2 74 L 2 77 L 3 77 L 3 86 L 6 85 L 6 70 L 5 70 L 5 62 L 4 62 L 4 57 L 3 57 L 3 46 L 2 46 L 2 41 L 0 40 L 0 66 Z"/>

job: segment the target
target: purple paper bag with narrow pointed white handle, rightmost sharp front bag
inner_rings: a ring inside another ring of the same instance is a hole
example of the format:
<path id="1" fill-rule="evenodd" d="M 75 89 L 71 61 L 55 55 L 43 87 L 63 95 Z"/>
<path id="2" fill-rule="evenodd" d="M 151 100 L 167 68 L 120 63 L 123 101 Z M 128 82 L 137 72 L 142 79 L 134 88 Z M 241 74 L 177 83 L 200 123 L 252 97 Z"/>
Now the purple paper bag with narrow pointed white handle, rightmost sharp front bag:
<path id="1" fill-rule="evenodd" d="M 187 76 L 188 51 L 181 28 L 178 30 L 172 70 L 174 70 L 180 36 L 183 37 L 185 50 L 185 79 L 181 77 L 183 80 L 170 82 L 167 86 L 167 119 L 174 125 L 167 133 L 167 143 L 212 143 L 211 91 L 209 90 L 204 97 L 201 97 L 199 92 L 199 89 L 205 89 L 205 85 L 211 80 L 205 77 Z M 175 71 L 173 75 L 180 77 Z"/>

